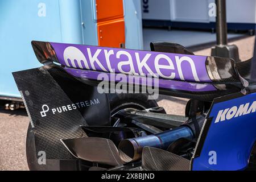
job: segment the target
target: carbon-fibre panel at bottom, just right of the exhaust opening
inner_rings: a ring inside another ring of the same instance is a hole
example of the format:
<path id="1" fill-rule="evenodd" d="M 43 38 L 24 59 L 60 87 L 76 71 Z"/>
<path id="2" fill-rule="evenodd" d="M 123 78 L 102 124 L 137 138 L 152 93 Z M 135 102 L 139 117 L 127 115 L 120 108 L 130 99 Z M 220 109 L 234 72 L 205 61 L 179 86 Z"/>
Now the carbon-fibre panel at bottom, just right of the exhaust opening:
<path id="1" fill-rule="evenodd" d="M 179 155 L 152 147 L 142 151 L 142 168 L 147 171 L 189 171 L 190 161 Z"/>

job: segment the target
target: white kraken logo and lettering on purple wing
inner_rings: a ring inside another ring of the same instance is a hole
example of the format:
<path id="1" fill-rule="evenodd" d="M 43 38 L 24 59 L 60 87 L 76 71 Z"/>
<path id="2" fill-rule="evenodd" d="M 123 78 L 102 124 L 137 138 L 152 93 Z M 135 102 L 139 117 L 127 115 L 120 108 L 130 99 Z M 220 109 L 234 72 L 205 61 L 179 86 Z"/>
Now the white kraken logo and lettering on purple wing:
<path id="1" fill-rule="evenodd" d="M 158 77 L 156 76 L 157 73 L 162 78 L 184 81 L 195 80 L 197 82 L 200 82 L 200 77 L 197 75 L 197 69 L 199 68 L 196 69 L 195 63 L 204 63 L 205 61 L 205 57 L 200 57 L 202 61 L 193 61 L 189 56 L 166 55 L 164 53 L 147 53 L 143 57 L 140 56 L 140 52 L 111 48 L 90 48 L 89 46 L 69 46 L 65 48 L 63 57 L 64 60 L 60 61 L 61 64 L 72 68 L 103 72 L 113 72 L 115 69 L 117 73 L 142 76 L 149 73 L 154 77 Z M 163 64 L 163 61 L 166 63 Z M 106 66 L 108 66 L 108 69 L 105 68 Z M 197 67 L 200 66 L 197 65 Z M 138 68 L 138 71 L 135 71 L 135 68 Z"/>

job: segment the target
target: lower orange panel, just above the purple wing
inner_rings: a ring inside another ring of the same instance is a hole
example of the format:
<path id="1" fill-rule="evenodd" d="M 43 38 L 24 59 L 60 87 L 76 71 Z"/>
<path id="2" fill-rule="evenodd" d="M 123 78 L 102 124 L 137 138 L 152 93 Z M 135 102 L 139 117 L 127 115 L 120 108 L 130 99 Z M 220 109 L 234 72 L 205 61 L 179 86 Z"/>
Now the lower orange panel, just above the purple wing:
<path id="1" fill-rule="evenodd" d="M 98 24 L 98 45 L 106 47 L 124 47 L 125 21 L 118 19 Z"/>

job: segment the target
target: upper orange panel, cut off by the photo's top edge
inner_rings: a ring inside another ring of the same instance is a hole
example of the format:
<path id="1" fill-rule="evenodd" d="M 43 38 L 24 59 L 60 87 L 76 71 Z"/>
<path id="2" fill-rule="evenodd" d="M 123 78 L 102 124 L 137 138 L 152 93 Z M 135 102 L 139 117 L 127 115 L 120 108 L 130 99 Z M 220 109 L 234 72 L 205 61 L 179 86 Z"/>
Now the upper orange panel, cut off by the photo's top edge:
<path id="1" fill-rule="evenodd" d="M 97 21 L 123 17 L 123 0 L 96 0 Z"/>

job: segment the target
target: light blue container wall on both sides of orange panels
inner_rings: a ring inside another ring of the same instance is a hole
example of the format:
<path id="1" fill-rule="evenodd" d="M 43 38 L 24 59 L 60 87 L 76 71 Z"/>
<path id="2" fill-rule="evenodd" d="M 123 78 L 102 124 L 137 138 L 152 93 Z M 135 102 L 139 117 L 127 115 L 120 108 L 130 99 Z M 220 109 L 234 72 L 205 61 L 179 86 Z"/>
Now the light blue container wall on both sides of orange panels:
<path id="1" fill-rule="evenodd" d="M 126 48 L 142 49 L 141 2 L 123 0 Z M 0 99 L 20 98 L 12 72 L 40 67 L 32 40 L 97 46 L 96 0 L 0 0 Z"/>

